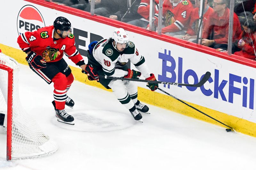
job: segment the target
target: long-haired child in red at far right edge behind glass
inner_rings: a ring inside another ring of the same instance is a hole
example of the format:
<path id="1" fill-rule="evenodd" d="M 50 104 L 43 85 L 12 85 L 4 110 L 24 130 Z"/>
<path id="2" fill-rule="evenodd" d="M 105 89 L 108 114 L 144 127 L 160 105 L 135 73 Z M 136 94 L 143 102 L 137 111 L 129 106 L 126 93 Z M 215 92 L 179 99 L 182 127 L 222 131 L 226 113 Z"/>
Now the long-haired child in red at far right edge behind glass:
<path id="1" fill-rule="evenodd" d="M 252 19 L 248 19 L 247 23 L 246 19 L 244 19 L 244 24 L 242 24 L 242 27 L 244 30 L 239 37 L 240 41 L 237 43 L 237 46 L 241 49 L 241 51 L 237 51 L 234 54 L 255 60 L 255 49 L 253 46 L 256 46 L 256 23 Z M 251 35 L 249 34 L 249 30 Z"/>

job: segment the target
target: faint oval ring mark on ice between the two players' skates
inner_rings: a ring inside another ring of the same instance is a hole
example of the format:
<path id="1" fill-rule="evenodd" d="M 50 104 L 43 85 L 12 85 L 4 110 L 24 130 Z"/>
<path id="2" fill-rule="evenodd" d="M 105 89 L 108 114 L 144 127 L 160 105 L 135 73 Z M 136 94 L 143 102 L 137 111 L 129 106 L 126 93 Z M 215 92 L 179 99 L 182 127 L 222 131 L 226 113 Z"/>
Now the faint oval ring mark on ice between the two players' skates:
<path id="1" fill-rule="evenodd" d="M 75 125 L 67 125 L 58 122 L 55 118 L 52 123 L 62 129 L 83 132 L 110 132 L 131 128 L 135 124 L 131 114 L 110 110 L 76 110 L 68 111 L 75 119 Z"/>

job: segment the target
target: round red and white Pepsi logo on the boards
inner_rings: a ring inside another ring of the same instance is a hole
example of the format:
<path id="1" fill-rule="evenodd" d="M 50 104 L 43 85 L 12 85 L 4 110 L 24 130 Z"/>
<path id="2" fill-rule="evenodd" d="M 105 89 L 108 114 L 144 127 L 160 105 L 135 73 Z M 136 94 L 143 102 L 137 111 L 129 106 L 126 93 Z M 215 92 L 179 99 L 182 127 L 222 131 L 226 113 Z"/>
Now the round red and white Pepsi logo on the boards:
<path id="1" fill-rule="evenodd" d="M 18 34 L 36 31 L 45 26 L 42 14 L 32 5 L 25 5 L 20 9 L 17 18 Z"/>

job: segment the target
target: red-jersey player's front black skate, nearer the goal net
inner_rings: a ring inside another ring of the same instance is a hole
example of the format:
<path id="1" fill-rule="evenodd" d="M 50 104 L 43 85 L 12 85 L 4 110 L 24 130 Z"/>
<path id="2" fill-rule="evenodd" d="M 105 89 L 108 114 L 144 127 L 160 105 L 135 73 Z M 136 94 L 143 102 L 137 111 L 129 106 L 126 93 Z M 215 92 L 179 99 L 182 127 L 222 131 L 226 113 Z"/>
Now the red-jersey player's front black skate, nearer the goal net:
<path id="1" fill-rule="evenodd" d="M 56 117 L 57 117 L 57 121 L 61 122 L 61 123 L 66 123 L 66 124 L 70 124 L 70 125 L 74 125 L 75 123 L 74 121 L 74 117 L 69 115 L 65 110 L 58 110 L 55 107 L 55 101 L 52 101 L 52 104 L 54 106 L 55 112 L 56 112 Z"/>

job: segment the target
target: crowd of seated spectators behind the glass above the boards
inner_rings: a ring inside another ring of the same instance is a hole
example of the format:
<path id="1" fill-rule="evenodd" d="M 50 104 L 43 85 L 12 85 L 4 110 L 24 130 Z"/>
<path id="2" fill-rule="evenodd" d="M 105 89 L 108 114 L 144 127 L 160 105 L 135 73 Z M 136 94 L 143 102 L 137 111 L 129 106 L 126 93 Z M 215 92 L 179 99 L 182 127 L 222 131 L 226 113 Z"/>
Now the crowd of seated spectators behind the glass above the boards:
<path id="1" fill-rule="evenodd" d="M 79 10 L 91 10 L 91 0 L 46 0 Z M 94 13 L 149 29 L 150 0 L 95 0 Z M 155 27 L 159 0 L 155 0 Z M 204 0 L 199 23 L 200 0 L 163 0 L 162 33 L 222 51 L 228 48 L 229 0 Z M 199 29 L 200 28 L 200 29 Z M 156 29 L 157 31 L 157 29 Z M 255 60 L 256 2 L 235 0 L 232 54 Z"/>

